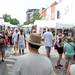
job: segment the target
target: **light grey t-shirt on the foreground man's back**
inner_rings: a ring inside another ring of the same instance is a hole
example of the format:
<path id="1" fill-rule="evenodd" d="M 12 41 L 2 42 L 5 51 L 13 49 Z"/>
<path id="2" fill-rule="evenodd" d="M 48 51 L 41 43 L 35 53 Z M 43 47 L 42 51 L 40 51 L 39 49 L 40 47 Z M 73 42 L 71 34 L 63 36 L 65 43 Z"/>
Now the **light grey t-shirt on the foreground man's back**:
<path id="1" fill-rule="evenodd" d="M 47 57 L 29 53 L 17 60 L 12 75 L 54 75 L 54 71 Z"/>

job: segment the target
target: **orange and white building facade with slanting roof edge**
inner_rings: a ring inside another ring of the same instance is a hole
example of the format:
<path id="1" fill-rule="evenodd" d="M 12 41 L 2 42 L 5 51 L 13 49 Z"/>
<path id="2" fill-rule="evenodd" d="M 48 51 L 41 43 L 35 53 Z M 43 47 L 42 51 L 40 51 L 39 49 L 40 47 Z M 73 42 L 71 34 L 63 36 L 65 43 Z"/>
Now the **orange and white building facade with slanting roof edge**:
<path id="1" fill-rule="evenodd" d="M 49 7 L 43 10 L 40 14 L 45 20 L 55 20 L 57 16 L 56 6 L 61 0 L 52 0 Z M 59 13 L 59 12 L 58 12 Z"/>

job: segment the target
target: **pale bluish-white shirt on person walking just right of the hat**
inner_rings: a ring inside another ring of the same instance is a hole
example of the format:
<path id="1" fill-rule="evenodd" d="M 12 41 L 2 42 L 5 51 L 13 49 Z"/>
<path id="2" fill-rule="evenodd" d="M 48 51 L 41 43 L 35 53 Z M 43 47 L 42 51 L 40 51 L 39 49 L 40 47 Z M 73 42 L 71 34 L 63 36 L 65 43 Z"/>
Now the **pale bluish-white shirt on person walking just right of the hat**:
<path id="1" fill-rule="evenodd" d="M 44 33 L 45 46 L 51 47 L 53 43 L 53 34 L 52 32 Z"/>

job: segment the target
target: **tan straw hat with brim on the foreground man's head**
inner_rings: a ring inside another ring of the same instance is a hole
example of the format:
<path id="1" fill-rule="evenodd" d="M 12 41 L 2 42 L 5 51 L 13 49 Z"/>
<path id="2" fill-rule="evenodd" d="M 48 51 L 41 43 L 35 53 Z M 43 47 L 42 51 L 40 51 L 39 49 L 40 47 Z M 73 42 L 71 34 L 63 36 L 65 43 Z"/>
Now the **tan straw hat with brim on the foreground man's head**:
<path id="1" fill-rule="evenodd" d="M 33 44 L 33 45 L 37 45 L 37 46 L 41 46 L 41 35 L 37 34 L 37 33 L 31 33 L 29 37 L 27 37 L 26 39 L 27 42 Z"/>

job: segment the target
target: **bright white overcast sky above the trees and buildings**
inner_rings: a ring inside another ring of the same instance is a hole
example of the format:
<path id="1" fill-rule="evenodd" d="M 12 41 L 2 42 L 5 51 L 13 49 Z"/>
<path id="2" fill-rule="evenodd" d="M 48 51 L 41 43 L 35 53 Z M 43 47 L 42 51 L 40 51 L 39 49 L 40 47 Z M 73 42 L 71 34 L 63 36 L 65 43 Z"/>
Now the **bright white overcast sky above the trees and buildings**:
<path id="1" fill-rule="evenodd" d="M 51 0 L 0 0 L 0 16 L 7 13 L 21 23 L 26 20 L 26 10 L 48 7 Z"/>

